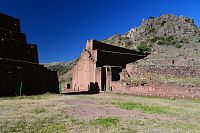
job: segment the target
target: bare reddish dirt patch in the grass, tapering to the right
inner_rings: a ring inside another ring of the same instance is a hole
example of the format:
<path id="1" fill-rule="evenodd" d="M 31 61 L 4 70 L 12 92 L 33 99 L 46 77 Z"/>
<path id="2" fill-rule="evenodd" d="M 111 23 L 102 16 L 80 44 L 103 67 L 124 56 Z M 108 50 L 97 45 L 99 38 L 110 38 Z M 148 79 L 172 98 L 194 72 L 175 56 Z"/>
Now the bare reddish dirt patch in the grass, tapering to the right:
<path id="1" fill-rule="evenodd" d="M 70 105 L 70 108 L 66 109 L 64 113 L 70 116 L 74 116 L 78 119 L 96 119 L 101 117 L 121 117 L 125 119 L 159 119 L 167 121 L 175 121 L 174 118 L 169 116 L 163 116 L 159 114 L 147 114 L 137 110 L 125 110 L 114 106 L 111 103 L 105 101 L 99 101 L 100 99 L 74 98 L 67 99 L 64 102 Z"/>

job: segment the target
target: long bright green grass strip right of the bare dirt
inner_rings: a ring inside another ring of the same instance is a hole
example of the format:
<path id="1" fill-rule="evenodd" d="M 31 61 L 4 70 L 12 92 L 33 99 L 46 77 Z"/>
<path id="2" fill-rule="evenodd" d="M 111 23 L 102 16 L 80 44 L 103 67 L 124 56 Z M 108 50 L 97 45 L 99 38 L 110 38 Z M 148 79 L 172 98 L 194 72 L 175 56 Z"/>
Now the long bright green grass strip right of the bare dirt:
<path id="1" fill-rule="evenodd" d="M 156 113 L 156 114 L 173 114 L 169 107 L 164 106 L 153 106 L 153 105 L 145 105 L 140 103 L 126 102 L 126 103 L 118 103 L 118 107 L 126 110 L 140 110 L 146 113 Z"/>

